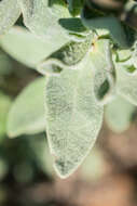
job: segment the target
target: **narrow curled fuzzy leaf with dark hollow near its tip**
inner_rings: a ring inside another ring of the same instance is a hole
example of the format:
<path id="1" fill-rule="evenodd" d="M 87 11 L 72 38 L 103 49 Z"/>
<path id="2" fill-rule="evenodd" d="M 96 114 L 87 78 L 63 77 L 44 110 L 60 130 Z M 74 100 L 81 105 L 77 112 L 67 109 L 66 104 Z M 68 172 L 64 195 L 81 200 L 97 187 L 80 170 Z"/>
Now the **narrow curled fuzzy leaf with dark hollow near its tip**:
<path id="1" fill-rule="evenodd" d="M 100 104 L 108 103 L 115 94 L 115 73 L 112 63 L 110 41 L 100 39 L 91 52 L 94 76 L 94 93 Z"/>

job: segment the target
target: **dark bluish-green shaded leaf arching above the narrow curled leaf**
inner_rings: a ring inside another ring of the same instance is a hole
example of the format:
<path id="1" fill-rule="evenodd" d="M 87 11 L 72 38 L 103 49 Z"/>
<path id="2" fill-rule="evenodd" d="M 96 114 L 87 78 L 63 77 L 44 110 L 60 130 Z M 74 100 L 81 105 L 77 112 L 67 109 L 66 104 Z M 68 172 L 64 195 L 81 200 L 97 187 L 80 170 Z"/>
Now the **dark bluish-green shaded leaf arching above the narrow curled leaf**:
<path id="1" fill-rule="evenodd" d="M 84 12 L 86 11 L 83 10 L 81 17 L 85 27 L 95 30 L 98 36 L 110 36 L 113 42 L 122 48 L 127 47 L 124 29 L 117 17 L 105 16 L 87 18 Z"/>

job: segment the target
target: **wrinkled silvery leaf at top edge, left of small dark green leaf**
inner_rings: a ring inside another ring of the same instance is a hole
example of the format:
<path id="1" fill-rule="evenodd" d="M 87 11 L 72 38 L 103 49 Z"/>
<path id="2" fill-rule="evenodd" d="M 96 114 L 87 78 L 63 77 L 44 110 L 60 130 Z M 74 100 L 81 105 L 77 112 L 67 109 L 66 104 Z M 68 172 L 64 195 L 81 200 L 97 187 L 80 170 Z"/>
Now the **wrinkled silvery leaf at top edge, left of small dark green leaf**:
<path id="1" fill-rule="evenodd" d="M 25 25 L 36 35 L 52 42 L 61 41 L 65 30 L 58 24 L 59 18 L 70 17 L 65 1 L 61 0 L 18 0 Z"/>

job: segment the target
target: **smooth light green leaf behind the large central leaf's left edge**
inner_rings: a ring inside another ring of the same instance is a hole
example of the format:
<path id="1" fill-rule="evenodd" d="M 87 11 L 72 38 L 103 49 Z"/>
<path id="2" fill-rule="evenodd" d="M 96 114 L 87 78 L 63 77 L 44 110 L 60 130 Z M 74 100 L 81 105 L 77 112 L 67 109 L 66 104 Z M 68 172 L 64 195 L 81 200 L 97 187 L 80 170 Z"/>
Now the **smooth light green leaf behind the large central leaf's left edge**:
<path id="1" fill-rule="evenodd" d="M 38 78 L 15 99 L 8 119 L 8 134 L 11 138 L 44 131 L 44 82 L 45 78 Z"/>

